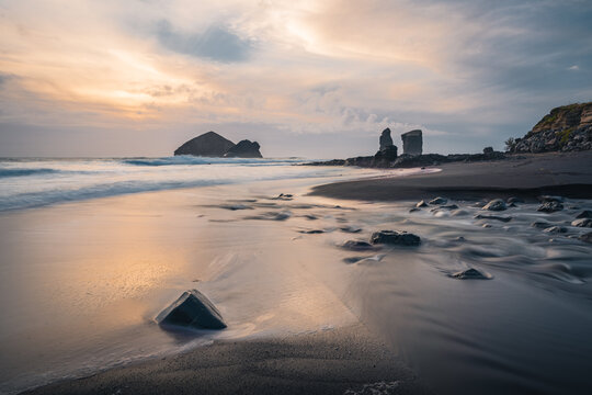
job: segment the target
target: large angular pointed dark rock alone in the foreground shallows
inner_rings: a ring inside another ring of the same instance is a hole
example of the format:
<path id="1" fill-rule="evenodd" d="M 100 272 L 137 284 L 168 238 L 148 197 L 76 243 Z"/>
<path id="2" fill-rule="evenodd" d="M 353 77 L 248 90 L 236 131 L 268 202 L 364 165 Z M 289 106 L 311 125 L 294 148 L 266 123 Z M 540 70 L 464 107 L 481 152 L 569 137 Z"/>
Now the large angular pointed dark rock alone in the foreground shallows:
<path id="1" fill-rule="evenodd" d="M 218 309 L 197 290 L 183 292 L 181 297 L 156 317 L 156 320 L 159 325 L 196 329 L 226 328 Z"/>

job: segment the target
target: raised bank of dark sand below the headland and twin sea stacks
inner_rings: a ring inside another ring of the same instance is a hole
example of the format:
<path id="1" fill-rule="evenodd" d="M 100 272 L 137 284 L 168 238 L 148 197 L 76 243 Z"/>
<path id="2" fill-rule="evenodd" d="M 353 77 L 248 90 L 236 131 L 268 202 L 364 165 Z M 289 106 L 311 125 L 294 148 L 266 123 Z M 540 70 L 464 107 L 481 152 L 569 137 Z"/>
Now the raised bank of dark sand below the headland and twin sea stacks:
<path id="1" fill-rule="evenodd" d="M 346 181 L 319 185 L 312 195 L 363 201 L 401 201 L 446 195 L 452 199 L 540 194 L 592 198 L 592 151 L 517 155 L 505 160 L 437 166 L 442 172 Z"/>

